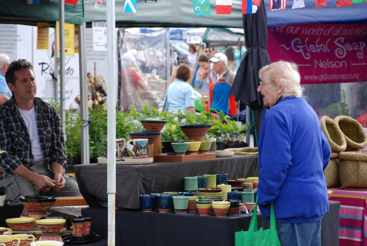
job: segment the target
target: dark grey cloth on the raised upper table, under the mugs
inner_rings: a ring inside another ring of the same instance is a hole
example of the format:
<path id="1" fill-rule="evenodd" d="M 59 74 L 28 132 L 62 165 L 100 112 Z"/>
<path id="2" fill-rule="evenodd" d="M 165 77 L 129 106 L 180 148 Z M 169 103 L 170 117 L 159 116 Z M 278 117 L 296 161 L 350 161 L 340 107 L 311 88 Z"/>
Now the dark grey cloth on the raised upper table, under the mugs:
<path id="1" fill-rule="evenodd" d="M 255 176 L 257 156 L 232 156 L 190 162 L 153 162 L 149 165 L 116 165 L 116 206 L 140 207 L 139 195 L 184 191 L 184 177 L 227 173 L 228 179 Z M 90 207 L 107 201 L 107 165 L 74 166 L 79 189 Z"/>

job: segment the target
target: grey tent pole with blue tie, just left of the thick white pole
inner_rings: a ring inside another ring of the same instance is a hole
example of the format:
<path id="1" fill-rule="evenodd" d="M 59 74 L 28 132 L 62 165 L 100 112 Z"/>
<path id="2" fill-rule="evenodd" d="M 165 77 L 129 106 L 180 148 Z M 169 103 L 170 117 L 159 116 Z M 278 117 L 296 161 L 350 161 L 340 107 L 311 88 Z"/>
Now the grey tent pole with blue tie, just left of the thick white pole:
<path id="1" fill-rule="evenodd" d="M 78 25 L 78 43 L 79 43 L 79 88 L 80 88 L 80 119 L 88 120 L 88 90 L 87 90 L 87 57 L 84 46 L 84 33 L 86 23 Z M 87 125 L 87 122 L 82 122 Z M 89 163 L 89 126 L 81 127 L 81 163 Z"/>

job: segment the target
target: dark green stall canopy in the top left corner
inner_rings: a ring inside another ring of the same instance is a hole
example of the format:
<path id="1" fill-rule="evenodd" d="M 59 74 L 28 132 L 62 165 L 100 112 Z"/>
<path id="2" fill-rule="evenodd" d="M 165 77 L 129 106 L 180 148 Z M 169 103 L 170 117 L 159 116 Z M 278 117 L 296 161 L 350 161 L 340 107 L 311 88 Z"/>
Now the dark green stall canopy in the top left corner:
<path id="1" fill-rule="evenodd" d="M 83 1 L 79 0 L 76 5 L 65 4 L 66 22 L 80 25 L 83 24 L 83 17 Z M 53 24 L 58 20 L 58 1 L 41 0 L 40 4 L 25 4 L 24 0 L 11 0 L 7 1 L 7 3 L 3 3 L 3 1 L 1 3 L 0 23 L 35 26 L 37 22 L 50 22 Z"/>

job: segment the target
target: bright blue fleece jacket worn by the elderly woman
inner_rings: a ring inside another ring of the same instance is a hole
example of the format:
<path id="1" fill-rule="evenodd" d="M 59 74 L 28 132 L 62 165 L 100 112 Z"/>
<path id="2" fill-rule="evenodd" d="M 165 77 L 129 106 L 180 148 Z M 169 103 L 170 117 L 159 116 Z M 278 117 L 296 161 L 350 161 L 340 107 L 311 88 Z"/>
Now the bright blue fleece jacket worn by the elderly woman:
<path id="1" fill-rule="evenodd" d="M 321 220 L 329 211 L 323 171 L 331 149 L 303 98 L 286 97 L 266 112 L 258 151 L 259 205 L 274 201 L 276 222 Z M 270 206 L 259 208 L 269 220 Z"/>

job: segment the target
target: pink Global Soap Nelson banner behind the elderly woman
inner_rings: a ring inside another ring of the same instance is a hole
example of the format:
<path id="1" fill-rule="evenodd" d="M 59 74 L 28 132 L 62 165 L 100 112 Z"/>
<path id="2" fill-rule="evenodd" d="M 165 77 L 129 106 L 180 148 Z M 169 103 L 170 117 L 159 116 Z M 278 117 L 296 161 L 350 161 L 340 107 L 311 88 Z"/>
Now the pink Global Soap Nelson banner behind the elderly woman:
<path id="1" fill-rule="evenodd" d="M 302 84 L 367 81 L 366 24 L 268 27 L 271 61 L 293 61 Z"/>

